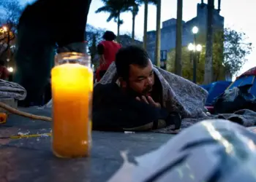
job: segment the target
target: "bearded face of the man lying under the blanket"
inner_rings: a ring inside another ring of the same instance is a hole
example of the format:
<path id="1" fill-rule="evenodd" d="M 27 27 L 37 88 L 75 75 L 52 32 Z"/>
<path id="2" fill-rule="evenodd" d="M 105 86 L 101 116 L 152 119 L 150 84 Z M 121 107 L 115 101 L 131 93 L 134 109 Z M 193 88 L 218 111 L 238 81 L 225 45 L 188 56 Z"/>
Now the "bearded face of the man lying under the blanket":
<path id="1" fill-rule="evenodd" d="M 154 69 L 151 60 L 148 60 L 148 65 L 141 68 L 138 65 L 129 67 L 129 80 L 123 86 L 128 91 L 133 91 L 138 95 L 147 95 L 152 91 L 154 85 Z"/>

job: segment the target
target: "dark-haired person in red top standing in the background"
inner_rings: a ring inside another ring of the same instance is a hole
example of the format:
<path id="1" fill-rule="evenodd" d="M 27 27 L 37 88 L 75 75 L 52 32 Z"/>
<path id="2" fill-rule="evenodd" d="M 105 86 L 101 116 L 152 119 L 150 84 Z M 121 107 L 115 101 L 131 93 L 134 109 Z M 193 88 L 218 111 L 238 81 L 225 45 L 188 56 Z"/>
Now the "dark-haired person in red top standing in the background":
<path id="1" fill-rule="evenodd" d="M 104 41 L 97 46 L 99 58 L 99 68 L 96 71 L 97 82 L 104 76 L 110 64 L 115 60 L 116 52 L 121 48 L 121 44 L 116 41 L 116 35 L 112 31 L 106 31 L 103 35 Z"/>

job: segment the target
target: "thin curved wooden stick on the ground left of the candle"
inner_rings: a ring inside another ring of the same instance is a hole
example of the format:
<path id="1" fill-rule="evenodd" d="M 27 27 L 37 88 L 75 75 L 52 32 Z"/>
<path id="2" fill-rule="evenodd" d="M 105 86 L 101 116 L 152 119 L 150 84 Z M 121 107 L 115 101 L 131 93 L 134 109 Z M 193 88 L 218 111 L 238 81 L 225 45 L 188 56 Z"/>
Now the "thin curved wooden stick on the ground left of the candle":
<path id="1" fill-rule="evenodd" d="M 9 111 L 12 114 L 18 114 L 20 116 L 24 116 L 30 119 L 38 119 L 38 120 L 42 120 L 42 121 L 46 121 L 46 122 L 51 122 L 53 119 L 47 116 L 38 116 L 38 115 L 34 115 L 34 114 L 30 114 L 24 111 L 19 111 L 16 108 L 12 108 L 11 106 L 8 106 L 5 103 L 0 102 L 0 108 L 4 108 L 4 110 Z"/>

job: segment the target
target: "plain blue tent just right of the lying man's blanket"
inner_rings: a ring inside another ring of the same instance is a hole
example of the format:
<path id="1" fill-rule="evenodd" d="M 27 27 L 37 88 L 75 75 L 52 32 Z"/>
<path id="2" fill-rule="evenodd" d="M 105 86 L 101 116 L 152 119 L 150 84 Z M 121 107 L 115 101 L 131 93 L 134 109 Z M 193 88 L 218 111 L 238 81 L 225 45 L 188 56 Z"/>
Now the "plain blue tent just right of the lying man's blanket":
<path id="1" fill-rule="evenodd" d="M 207 90 L 208 92 L 206 106 L 212 106 L 214 98 L 221 95 L 230 84 L 231 82 L 219 81 L 219 82 L 213 82 L 211 84 L 200 85 L 201 87 L 203 87 L 203 89 Z"/>

